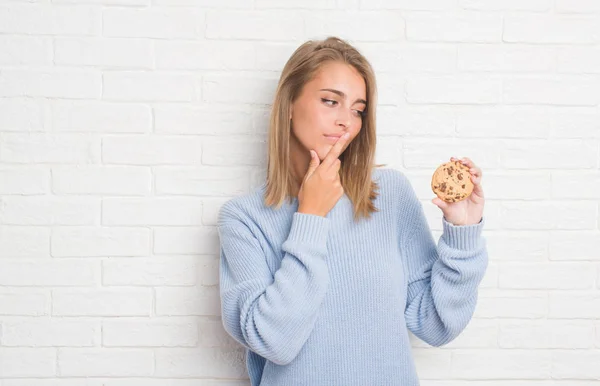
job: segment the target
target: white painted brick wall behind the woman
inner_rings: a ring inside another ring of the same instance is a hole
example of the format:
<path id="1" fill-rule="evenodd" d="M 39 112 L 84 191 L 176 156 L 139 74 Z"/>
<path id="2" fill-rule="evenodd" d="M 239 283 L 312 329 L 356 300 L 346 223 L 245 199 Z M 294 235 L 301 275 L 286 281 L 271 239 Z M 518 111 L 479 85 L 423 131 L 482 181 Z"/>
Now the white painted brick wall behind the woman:
<path id="1" fill-rule="evenodd" d="M 485 171 L 490 266 L 423 386 L 600 382 L 600 2 L 0 0 L 0 386 L 246 386 L 216 217 L 304 40 L 379 81 L 377 158 Z"/>

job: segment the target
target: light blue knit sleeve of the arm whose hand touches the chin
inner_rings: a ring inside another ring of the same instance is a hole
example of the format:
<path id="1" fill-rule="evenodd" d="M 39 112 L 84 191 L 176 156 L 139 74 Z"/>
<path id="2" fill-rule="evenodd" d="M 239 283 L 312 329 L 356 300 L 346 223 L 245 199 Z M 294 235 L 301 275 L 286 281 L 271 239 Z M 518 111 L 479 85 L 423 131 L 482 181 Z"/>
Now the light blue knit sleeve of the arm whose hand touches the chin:
<path id="1" fill-rule="evenodd" d="M 278 365 L 300 352 L 325 297 L 329 221 L 294 213 L 274 274 L 247 225 L 225 215 L 219 221 L 223 326 L 236 341 Z"/>

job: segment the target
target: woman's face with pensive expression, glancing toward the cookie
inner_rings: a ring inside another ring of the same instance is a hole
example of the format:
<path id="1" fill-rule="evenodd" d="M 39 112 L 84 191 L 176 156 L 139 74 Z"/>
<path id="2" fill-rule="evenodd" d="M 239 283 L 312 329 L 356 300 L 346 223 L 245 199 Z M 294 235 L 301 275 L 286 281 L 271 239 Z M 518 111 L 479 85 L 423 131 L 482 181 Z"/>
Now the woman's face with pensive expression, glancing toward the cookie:
<path id="1" fill-rule="evenodd" d="M 312 149 L 322 160 L 348 132 L 345 149 L 360 132 L 366 103 L 365 81 L 354 67 L 324 64 L 292 104 L 292 150 L 297 147 L 310 157 Z"/>

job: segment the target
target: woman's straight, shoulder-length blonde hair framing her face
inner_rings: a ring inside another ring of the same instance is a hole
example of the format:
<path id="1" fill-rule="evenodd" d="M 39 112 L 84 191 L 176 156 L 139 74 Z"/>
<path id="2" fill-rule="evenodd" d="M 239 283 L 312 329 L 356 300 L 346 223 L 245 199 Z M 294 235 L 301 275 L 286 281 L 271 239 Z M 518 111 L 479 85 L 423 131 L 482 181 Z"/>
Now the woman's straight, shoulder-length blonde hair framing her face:
<path id="1" fill-rule="evenodd" d="M 309 40 L 296 49 L 285 64 L 271 110 L 268 137 L 265 204 L 279 208 L 294 188 L 290 162 L 291 105 L 306 83 L 314 78 L 323 64 L 337 61 L 353 66 L 363 77 L 367 107 L 359 134 L 340 155 L 340 182 L 354 207 L 354 220 L 369 218 L 378 209 L 373 200 L 379 186 L 371 180 L 375 165 L 375 74 L 367 59 L 354 47 L 337 37 Z"/>

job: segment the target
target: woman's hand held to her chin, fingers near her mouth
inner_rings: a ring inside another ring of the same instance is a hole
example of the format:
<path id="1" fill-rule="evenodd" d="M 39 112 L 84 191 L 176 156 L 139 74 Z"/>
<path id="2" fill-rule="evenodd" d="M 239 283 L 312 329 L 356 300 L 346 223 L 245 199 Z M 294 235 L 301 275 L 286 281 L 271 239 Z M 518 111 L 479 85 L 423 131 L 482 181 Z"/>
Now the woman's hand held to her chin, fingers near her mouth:
<path id="1" fill-rule="evenodd" d="M 323 162 L 319 162 L 314 150 L 310 151 L 310 165 L 298 192 L 298 212 L 325 217 L 344 195 L 339 174 L 342 163 L 338 157 L 349 137 L 348 133 L 341 136 Z"/>

